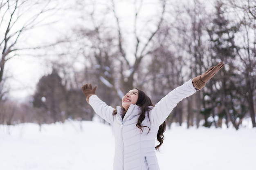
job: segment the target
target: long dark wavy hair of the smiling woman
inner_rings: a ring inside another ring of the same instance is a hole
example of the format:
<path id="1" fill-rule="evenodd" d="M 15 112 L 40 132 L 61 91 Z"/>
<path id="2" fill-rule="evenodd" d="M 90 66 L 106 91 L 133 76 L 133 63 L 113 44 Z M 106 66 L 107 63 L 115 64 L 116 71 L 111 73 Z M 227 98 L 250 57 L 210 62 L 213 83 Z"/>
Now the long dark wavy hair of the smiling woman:
<path id="1" fill-rule="evenodd" d="M 143 126 L 142 125 L 142 121 L 144 121 L 146 114 L 148 115 L 149 110 L 151 110 L 152 108 L 150 108 L 149 106 L 154 106 L 151 102 L 151 99 L 146 95 L 146 93 L 144 93 L 144 91 L 135 88 L 139 91 L 138 94 L 138 100 L 136 102 L 136 105 L 139 106 L 141 108 L 141 113 L 139 115 L 138 118 L 138 122 L 136 124 L 136 126 L 143 132 L 144 127 L 148 128 L 148 132 L 150 131 L 150 128 L 148 126 Z M 126 110 L 122 107 L 122 111 L 126 112 Z M 113 111 L 113 115 L 117 114 L 117 109 L 115 109 Z M 150 121 L 150 120 L 149 120 Z M 157 132 L 157 141 L 159 141 L 159 145 L 155 146 L 156 150 L 159 150 L 159 147 L 163 144 L 164 142 L 164 131 L 166 130 L 166 123 L 164 121 L 164 123 L 162 125 L 159 126 L 158 128 L 158 132 Z"/>

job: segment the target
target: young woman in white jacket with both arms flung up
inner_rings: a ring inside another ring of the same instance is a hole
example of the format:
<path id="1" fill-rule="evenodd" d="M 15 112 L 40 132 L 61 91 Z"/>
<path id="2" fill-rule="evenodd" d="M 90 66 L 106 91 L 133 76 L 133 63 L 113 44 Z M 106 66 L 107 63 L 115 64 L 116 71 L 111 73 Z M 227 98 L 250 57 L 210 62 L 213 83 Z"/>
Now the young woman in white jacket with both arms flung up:
<path id="1" fill-rule="evenodd" d="M 165 119 L 182 99 L 203 88 L 224 66 L 223 62 L 202 75 L 190 79 L 163 97 L 155 106 L 141 90 L 130 90 L 122 98 L 122 106 L 112 108 L 101 101 L 91 84 L 82 87 L 87 102 L 114 129 L 114 170 L 159 170 L 155 149 L 163 143 Z M 155 146 L 155 139 L 159 145 Z"/>

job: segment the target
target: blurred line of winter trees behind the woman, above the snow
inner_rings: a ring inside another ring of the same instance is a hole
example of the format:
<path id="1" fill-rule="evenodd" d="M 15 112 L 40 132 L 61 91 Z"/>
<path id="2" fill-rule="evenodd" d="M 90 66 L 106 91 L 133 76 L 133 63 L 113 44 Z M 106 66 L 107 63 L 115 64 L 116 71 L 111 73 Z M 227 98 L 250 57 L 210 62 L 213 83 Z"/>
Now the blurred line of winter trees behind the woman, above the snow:
<path id="1" fill-rule="evenodd" d="M 92 120 L 81 92 L 85 83 L 97 85 L 97 95 L 113 107 L 132 88 L 156 104 L 223 61 L 225 67 L 180 102 L 166 123 L 238 129 L 250 117 L 256 127 L 256 0 L 77 0 L 69 10 L 79 13 L 78 22 L 70 36 L 45 48 L 56 51 L 52 71 L 27 102 L 8 100 L 2 88 L 4 63 L 18 53 L 18 38 L 9 42 L 8 27 L 1 35 L 0 124 Z"/>

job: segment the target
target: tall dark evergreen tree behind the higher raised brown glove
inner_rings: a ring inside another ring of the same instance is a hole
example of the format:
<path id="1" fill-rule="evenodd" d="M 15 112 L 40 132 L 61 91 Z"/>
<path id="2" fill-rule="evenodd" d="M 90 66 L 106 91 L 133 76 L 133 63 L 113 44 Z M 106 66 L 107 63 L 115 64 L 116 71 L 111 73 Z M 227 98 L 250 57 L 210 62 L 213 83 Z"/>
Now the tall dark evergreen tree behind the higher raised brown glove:
<path id="1" fill-rule="evenodd" d="M 240 124 L 246 113 L 245 98 L 243 96 L 244 83 L 240 80 L 243 76 L 238 72 L 236 65 L 236 49 L 238 47 L 235 45 L 235 33 L 238 31 L 239 25 L 232 25 L 229 20 L 226 19 L 225 5 L 221 1 L 216 2 L 216 13 L 214 15 L 212 25 L 209 26 L 208 33 L 211 42 L 211 60 L 215 61 L 221 59 L 225 62 L 225 69 L 222 70 L 222 75 L 220 77 L 214 77 L 213 81 L 208 86 L 209 96 L 211 98 L 211 103 L 213 105 L 220 104 L 218 109 L 219 115 L 226 117 L 227 121 L 231 121 L 236 129 Z M 217 81 L 221 88 L 217 87 Z M 213 88 L 213 85 L 216 88 Z M 220 96 L 218 98 L 216 95 Z M 221 102 L 218 102 L 221 100 Z M 211 105 L 212 106 L 212 105 Z M 210 107 L 211 107 L 210 106 Z M 209 109 L 205 109 L 209 110 Z M 221 116 L 219 116 L 221 117 Z"/>

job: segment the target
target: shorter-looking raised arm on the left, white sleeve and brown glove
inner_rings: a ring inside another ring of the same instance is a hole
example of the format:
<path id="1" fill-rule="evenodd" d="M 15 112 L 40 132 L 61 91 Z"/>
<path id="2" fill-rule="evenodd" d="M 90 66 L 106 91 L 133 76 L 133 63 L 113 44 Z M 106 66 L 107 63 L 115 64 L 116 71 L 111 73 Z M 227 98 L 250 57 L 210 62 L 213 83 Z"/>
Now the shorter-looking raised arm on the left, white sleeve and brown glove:
<path id="1" fill-rule="evenodd" d="M 102 119 L 106 120 L 108 123 L 113 124 L 113 110 L 111 106 L 108 106 L 105 102 L 103 102 L 97 95 L 95 95 L 97 86 L 92 88 L 92 84 L 85 84 L 82 86 L 83 94 L 86 97 L 86 101 L 90 104 Z"/>

